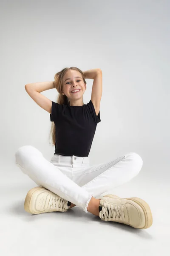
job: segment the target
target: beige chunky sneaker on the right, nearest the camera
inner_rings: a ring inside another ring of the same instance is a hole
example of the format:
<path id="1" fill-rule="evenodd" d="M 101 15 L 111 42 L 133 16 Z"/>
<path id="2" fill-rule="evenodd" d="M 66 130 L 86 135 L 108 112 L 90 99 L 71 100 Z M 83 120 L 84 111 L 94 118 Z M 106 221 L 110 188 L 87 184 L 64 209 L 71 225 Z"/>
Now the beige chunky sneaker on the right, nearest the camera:
<path id="1" fill-rule="evenodd" d="M 153 223 L 149 205 L 135 197 L 103 196 L 100 199 L 99 217 L 102 221 L 115 221 L 139 229 L 149 228 Z"/>

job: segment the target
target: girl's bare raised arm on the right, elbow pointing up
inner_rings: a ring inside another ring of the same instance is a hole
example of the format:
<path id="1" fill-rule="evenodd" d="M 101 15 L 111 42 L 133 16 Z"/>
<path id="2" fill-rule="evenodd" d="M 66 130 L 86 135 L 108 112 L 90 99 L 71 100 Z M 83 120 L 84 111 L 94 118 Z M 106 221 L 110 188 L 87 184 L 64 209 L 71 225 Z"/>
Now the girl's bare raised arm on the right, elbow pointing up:
<path id="1" fill-rule="evenodd" d="M 92 92 L 91 92 L 91 101 L 94 105 L 96 115 L 99 114 L 100 101 L 102 98 L 102 70 L 101 69 L 92 69 L 84 72 L 85 79 L 94 79 Z"/>

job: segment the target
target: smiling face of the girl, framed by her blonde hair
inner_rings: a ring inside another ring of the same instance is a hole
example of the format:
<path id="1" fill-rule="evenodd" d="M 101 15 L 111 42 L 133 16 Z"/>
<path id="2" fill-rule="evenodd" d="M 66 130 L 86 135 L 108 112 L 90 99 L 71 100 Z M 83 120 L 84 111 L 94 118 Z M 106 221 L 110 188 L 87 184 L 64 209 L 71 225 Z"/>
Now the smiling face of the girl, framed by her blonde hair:
<path id="1" fill-rule="evenodd" d="M 77 93 L 71 93 L 73 90 L 80 89 Z M 77 70 L 68 70 L 63 79 L 62 95 L 66 95 L 70 102 L 74 99 L 82 99 L 82 96 L 86 90 L 86 84 L 82 79 L 81 73 Z"/>

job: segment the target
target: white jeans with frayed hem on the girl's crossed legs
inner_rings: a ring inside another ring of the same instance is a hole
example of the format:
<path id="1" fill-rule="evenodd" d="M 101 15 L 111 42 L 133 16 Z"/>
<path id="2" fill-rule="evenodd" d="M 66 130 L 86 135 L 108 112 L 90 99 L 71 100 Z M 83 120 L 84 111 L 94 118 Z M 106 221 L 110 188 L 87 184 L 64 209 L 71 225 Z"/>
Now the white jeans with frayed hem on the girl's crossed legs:
<path id="1" fill-rule="evenodd" d="M 143 161 L 130 152 L 115 160 L 90 166 L 89 157 L 54 154 L 51 161 L 31 145 L 20 147 L 15 163 L 37 185 L 76 204 L 85 212 L 92 196 L 107 192 L 138 175 Z"/>

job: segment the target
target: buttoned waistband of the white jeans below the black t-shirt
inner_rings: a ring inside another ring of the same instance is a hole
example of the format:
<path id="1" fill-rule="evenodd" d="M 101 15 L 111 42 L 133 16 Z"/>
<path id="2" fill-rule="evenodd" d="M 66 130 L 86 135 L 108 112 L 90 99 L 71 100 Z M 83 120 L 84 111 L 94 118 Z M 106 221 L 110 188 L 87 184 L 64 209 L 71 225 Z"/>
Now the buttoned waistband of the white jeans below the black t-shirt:
<path id="1" fill-rule="evenodd" d="M 63 156 L 60 154 L 54 154 L 51 160 L 59 162 L 70 162 L 70 163 L 90 163 L 89 157 L 77 157 L 77 156 Z"/>

